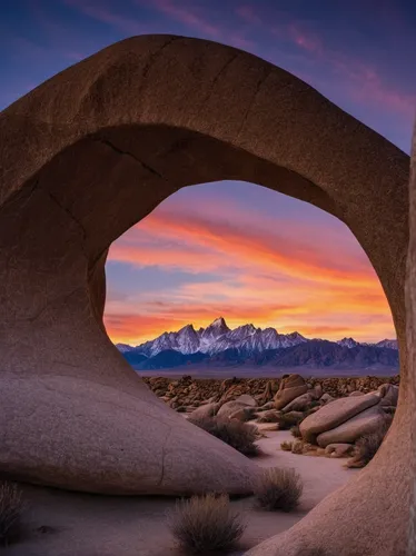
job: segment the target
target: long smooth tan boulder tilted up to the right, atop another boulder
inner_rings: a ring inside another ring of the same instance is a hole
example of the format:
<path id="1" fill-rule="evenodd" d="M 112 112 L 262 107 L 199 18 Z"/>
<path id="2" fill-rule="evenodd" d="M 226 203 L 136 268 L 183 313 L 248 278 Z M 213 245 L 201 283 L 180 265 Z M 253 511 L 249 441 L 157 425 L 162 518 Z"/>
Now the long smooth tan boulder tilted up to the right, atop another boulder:
<path id="1" fill-rule="evenodd" d="M 380 397 L 373 393 L 365 394 L 364 396 L 335 399 L 330 404 L 320 407 L 318 411 L 308 415 L 308 417 L 301 421 L 301 436 L 305 440 L 314 443 L 316 437 L 321 433 L 338 427 L 338 425 L 341 425 L 368 407 L 375 406 L 379 400 Z M 330 440 L 327 444 L 336 441 L 344 440 Z"/>

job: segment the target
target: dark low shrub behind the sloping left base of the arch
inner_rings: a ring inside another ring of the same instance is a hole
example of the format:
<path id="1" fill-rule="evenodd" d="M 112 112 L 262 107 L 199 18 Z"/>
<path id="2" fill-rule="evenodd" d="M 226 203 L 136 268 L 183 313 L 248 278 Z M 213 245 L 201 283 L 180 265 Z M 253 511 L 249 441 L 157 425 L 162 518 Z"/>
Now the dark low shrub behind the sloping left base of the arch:
<path id="1" fill-rule="evenodd" d="M 246 456 L 259 454 L 259 448 L 255 444 L 259 438 L 259 431 L 254 425 L 220 417 L 189 419 L 189 423 L 202 428 Z"/>

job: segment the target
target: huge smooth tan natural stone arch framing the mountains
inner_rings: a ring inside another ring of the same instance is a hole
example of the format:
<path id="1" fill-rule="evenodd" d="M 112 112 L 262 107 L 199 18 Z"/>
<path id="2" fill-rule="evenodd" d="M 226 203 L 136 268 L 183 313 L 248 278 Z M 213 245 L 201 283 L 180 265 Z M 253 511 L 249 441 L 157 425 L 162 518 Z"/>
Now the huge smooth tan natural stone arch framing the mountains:
<path id="1" fill-rule="evenodd" d="M 410 461 L 408 157 L 286 71 L 168 36 L 119 42 L 53 77 L 1 113 L 0 138 L 0 471 L 101 493 L 249 492 L 256 466 L 157 400 L 101 317 L 111 241 L 184 186 L 251 181 L 351 229 L 402 363 L 374 461 L 258 554 L 295 555 L 325 530 L 338 554 L 396 554 Z"/>

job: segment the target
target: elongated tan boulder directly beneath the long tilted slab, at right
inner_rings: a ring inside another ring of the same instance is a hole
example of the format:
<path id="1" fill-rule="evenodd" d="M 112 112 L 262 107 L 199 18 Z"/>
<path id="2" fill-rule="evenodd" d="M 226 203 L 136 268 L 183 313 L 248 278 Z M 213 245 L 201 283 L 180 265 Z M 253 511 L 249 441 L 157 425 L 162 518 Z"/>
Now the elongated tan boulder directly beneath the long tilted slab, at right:
<path id="1" fill-rule="evenodd" d="M 385 413 L 379 405 L 375 405 L 355 415 L 338 427 L 321 433 L 317 437 L 317 443 L 321 448 L 326 448 L 329 444 L 355 443 L 360 436 L 375 433 L 385 424 Z"/>

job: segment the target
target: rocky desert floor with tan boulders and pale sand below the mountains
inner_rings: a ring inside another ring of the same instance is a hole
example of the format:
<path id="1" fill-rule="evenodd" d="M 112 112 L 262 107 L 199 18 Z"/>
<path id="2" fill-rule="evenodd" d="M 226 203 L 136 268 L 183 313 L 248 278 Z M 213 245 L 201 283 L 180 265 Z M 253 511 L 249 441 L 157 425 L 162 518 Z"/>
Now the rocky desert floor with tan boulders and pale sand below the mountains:
<path id="1" fill-rule="evenodd" d="M 399 377 L 145 381 L 171 409 L 246 454 L 259 470 L 296 471 L 301 494 L 288 507 L 278 497 L 271 507 L 256 503 L 255 484 L 251 496 L 227 502 L 245 528 L 220 553 L 237 556 L 291 527 L 372 459 L 395 413 Z M 28 484 L 19 489 L 20 538 L 3 547 L 7 556 L 113 556 L 121 548 L 126 556 L 189 554 L 169 526 L 172 498 L 108 498 Z"/>

